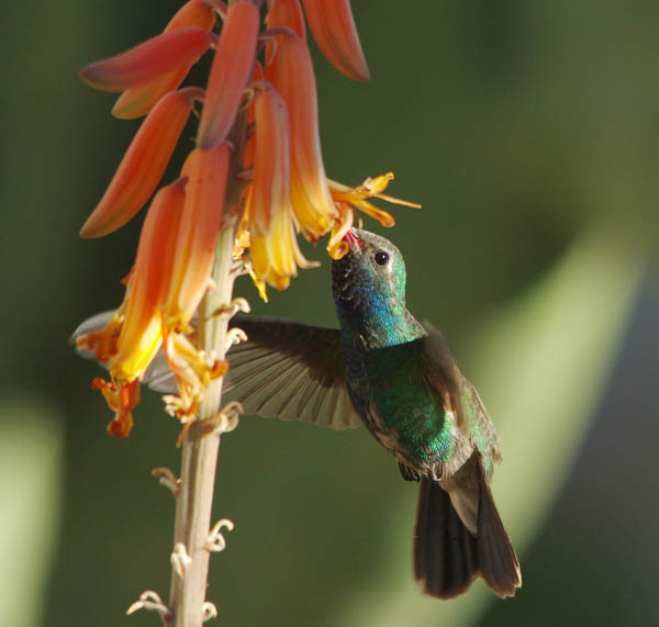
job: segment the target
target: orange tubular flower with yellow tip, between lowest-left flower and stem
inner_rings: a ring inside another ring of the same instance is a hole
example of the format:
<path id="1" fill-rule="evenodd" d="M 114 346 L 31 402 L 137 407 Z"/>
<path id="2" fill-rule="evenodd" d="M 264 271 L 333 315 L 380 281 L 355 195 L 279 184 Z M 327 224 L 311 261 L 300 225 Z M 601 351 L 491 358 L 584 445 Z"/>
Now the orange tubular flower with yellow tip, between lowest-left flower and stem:
<path id="1" fill-rule="evenodd" d="M 186 204 L 165 307 L 165 324 L 177 331 L 188 325 L 209 287 L 230 156 L 231 149 L 224 143 L 212 150 L 193 150 L 188 161 Z"/>

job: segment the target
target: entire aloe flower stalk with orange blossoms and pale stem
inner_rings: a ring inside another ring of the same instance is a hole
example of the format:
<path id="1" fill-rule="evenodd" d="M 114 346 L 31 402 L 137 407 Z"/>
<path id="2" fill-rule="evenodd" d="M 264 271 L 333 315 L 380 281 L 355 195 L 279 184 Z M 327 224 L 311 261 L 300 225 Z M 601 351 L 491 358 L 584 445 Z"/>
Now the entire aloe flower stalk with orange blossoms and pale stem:
<path id="1" fill-rule="evenodd" d="M 311 31 L 342 71 L 365 79 L 366 61 L 347 2 L 333 13 L 305 3 Z M 174 373 L 177 393 L 166 411 L 182 428 L 181 477 L 156 469 L 176 496 L 169 602 L 146 591 L 130 608 L 155 609 L 171 627 L 199 627 L 214 616 L 205 600 L 211 551 L 222 550 L 222 519 L 211 527 L 220 437 L 237 425 L 239 406 L 222 406 L 227 347 L 245 337 L 228 318 L 248 311 L 232 298 L 246 268 L 260 295 L 286 289 L 304 258 L 298 236 L 328 236 L 333 258 L 362 211 L 386 226 L 392 216 L 367 199 L 398 201 L 382 192 L 392 175 L 350 188 L 327 178 L 319 128 L 315 77 L 299 0 L 261 2 L 189 0 L 165 31 L 131 51 L 91 64 L 81 77 L 101 90 L 122 91 L 113 114 L 146 115 L 82 237 L 123 226 L 153 195 L 123 303 L 99 324 L 76 333 L 78 349 L 109 370 L 94 379 L 114 417 L 108 430 L 126 437 L 147 371 Z M 348 20 L 349 16 L 349 20 Z M 345 49 L 344 49 L 345 48 Z M 330 53 L 327 51 L 331 51 Z M 205 85 L 180 88 L 190 68 L 212 54 Z M 163 182 L 193 108 L 201 105 L 194 145 L 180 177 Z"/>

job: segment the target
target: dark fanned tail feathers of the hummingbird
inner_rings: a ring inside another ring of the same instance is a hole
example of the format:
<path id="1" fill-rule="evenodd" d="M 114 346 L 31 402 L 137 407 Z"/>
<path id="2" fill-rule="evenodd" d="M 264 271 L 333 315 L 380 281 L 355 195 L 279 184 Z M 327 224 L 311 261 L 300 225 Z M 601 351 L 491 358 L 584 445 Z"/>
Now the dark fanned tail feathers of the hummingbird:
<path id="1" fill-rule="evenodd" d="M 477 575 L 499 596 L 522 585 L 520 562 L 496 512 L 478 454 L 467 462 L 478 473 L 477 536 L 454 508 L 448 492 L 424 477 L 414 537 L 414 574 L 424 592 L 438 598 L 462 594 Z M 466 464 L 466 466 L 467 466 Z"/>

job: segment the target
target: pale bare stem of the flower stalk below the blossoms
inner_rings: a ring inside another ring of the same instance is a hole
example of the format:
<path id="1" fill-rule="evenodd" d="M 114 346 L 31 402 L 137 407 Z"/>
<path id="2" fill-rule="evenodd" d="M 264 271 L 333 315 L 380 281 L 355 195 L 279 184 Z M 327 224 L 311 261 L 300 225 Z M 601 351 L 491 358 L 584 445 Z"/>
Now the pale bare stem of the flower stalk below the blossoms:
<path id="1" fill-rule="evenodd" d="M 217 239 L 213 281 L 199 311 L 200 344 L 208 352 L 224 359 L 227 317 L 213 315 L 228 305 L 233 291 L 231 272 L 234 226 L 227 224 Z M 205 548 L 211 528 L 211 510 L 215 484 L 215 466 L 220 447 L 219 433 L 204 433 L 204 421 L 220 412 L 222 379 L 208 388 L 199 419 L 187 432 L 182 441 L 181 480 L 176 506 L 175 546 L 182 542 L 191 562 L 180 576 L 171 573 L 169 607 L 172 627 L 200 627 L 203 623 L 209 572 L 209 550 Z"/>

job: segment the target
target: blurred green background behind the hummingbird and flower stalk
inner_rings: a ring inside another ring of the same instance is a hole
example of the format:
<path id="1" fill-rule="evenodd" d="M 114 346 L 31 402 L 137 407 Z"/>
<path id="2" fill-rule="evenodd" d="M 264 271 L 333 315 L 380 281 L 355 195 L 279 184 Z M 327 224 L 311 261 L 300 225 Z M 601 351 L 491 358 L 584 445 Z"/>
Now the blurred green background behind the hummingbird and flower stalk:
<path id="1" fill-rule="evenodd" d="M 494 493 L 524 586 L 424 598 L 416 490 L 361 430 L 245 417 L 223 440 L 212 559 L 219 625 L 654 625 L 659 580 L 659 4 L 354 1 L 371 81 L 314 48 L 328 173 L 394 170 L 387 233 L 409 305 L 440 326 L 503 439 Z M 10 3 L 2 96 L 0 624 L 156 625 L 167 595 L 178 428 L 145 394 L 133 435 L 67 338 L 115 306 L 141 219 L 77 232 L 136 124 L 86 63 L 156 34 L 179 2 Z M 189 134 L 191 135 L 191 133 Z M 179 161 L 180 163 L 180 161 Z M 178 164 L 177 164 L 178 166 Z M 367 228 L 382 232 L 366 222 Z M 328 261 L 257 313 L 333 325 Z"/>

